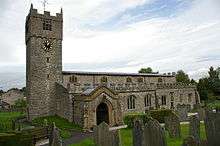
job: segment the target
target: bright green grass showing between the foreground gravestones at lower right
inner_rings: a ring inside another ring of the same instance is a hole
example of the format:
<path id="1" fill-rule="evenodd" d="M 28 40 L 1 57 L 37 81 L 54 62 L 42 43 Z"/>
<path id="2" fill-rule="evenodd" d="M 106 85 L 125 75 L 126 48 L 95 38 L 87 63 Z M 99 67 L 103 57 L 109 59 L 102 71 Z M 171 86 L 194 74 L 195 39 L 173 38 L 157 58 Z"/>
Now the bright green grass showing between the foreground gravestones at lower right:
<path id="1" fill-rule="evenodd" d="M 181 146 L 183 139 L 188 136 L 189 125 L 181 125 L 181 135 L 182 138 L 169 138 L 168 133 L 166 133 L 168 146 Z M 200 136 L 201 139 L 206 139 L 205 136 L 205 126 L 201 124 L 200 126 Z M 132 130 L 131 129 L 122 129 L 120 131 L 121 144 L 122 146 L 132 146 Z M 72 144 L 71 146 L 95 146 L 92 139 L 86 139 L 78 144 Z"/>

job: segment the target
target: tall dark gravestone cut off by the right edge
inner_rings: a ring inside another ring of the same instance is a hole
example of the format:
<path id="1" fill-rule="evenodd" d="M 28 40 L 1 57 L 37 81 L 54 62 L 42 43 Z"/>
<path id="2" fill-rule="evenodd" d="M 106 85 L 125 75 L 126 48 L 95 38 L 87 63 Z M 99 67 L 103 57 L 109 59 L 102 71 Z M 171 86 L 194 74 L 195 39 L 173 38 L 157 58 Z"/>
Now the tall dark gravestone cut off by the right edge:
<path id="1" fill-rule="evenodd" d="M 208 146 L 220 146 L 220 113 L 206 110 L 205 129 Z"/>

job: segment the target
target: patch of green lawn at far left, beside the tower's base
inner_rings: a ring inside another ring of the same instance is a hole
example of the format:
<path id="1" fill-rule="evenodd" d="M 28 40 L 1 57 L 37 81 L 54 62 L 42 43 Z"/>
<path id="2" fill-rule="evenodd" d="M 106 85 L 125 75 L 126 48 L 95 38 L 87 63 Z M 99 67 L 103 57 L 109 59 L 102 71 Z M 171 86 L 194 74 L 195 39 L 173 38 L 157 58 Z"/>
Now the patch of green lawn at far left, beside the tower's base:
<path id="1" fill-rule="evenodd" d="M 0 112 L 0 132 L 12 130 L 12 121 L 24 116 L 21 112 Z"/>

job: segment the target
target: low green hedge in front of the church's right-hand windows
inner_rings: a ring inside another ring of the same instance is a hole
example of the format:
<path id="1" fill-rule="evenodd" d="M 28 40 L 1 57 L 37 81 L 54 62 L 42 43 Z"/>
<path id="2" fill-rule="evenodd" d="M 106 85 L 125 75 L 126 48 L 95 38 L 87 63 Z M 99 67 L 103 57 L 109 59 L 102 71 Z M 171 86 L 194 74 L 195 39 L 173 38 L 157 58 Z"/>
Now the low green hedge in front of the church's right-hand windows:
<path id="1" fill-rule="evenodd" d="M 152 117 L 156 119 L 160 123 L 164 123 L 164 118 L 166 116 L 169 116 L 171 114 L 174 114 L 172 110 L 169 109 L 161 109 L 161 110 L 151 110 L 149 113 L 131 113 L 126 115 L 123 120 L 126 125 L 128 125 L 128 128 L 133 127 L 133 121 L 135 119 L 141 119 L 143 123 L 146 123 L 146 121 Z"/>

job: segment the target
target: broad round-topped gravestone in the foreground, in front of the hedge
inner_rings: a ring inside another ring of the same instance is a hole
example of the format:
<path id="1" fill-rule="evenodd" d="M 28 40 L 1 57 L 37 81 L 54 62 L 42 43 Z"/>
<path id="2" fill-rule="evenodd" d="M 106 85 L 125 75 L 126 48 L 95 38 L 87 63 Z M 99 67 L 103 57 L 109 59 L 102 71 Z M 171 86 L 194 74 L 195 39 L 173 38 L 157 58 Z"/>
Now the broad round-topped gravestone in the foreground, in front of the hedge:
<path id="1" fill-rule="evenodd" d="M 142 146 L 167 146 L 165 132 L 155 119 L 149 119 L 143 132 Z"/>

